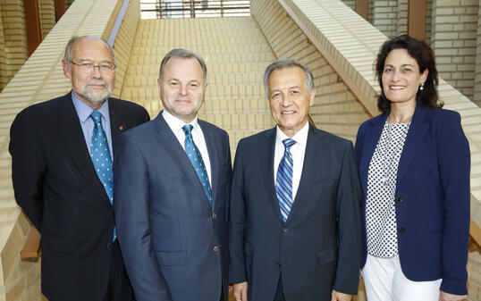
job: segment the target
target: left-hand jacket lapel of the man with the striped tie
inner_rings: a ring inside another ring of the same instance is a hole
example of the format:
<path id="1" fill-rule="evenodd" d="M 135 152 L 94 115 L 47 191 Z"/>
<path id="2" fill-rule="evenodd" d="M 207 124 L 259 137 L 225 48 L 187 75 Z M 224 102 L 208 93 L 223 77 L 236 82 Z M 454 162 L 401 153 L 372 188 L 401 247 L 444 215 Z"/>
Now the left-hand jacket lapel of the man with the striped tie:
<path id="1" fill-rule="evenodd" d="M 279 202 L 275 195 L 274 183 L 274 152 L 275 152 L 275 131 L 276 128 L 264 132 L 265 140 L 258 147 L 259 150 L 259 166 L 261 167 L 264 185 L 266 186 L 267 196 L 273 206 L 274 214 L 277 215 L 279 221 L 283 223 L 283 216 L 279 208 Z"/>

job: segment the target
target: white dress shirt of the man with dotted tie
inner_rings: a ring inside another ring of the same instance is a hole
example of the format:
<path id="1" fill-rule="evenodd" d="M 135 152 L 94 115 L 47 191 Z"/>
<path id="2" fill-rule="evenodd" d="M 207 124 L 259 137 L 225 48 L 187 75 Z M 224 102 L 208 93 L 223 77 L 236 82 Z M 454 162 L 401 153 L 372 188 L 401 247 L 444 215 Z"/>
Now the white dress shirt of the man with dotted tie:
<path id="1" fill-rule="evenodd" d="M 183 132 L 182 127 L 186 124 L 190 124 L 193 126 L 190 133 L 192 134 L 192 138 L 194 139 L 194 143 L 196 144 L 200 155 L 202 155 L 202 160 L 204 161 L 204 164 L 206 164 L 207 176 L 209 178 L 210 188 L 212 189 L 213 183 L 210 170 L 210 160 L 207 151 L 207 143 L 206 138 L 204 138 L 204 133 L 198 125 L 198 117 L 196 116 L 196 118 L 194 118 L 193 121 L 190 121 L 190 123 L 185 123 L 179 118 L 173 116 L 173 114 L 169 113 L 167 110 L 164 110 L 164 112 L 162 112 L 162 117 L 164 117 L 165 122 L 167 122 L 167 125 L 173 131 L 173 135 L 175 135 L 177 140 L 179 140 L 179 143 L 181 144 L 184 151 L 185 133 Z"/>

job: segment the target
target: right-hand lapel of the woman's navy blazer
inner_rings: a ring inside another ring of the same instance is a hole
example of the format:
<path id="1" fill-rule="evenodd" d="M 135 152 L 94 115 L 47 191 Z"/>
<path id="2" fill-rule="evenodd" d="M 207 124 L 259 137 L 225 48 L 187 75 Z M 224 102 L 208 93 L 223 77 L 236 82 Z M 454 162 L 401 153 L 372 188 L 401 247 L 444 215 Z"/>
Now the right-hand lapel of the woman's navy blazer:
<path id="1" fill-rule="evenodd" d="M 429 129 L 429 118 L 430 114 L 428 109 L 422 106 L 416 107 L 416 111 L 412 116 L 412 121 L 409 126 L 406 142 L 404 142 L 404 147 L 402 148 L 401 158 L 399 160 L 396 181 L 398 185 L 401 183 L 406 171 L 408 171 L 410 163 L 412 163 L 418 154 L 418 149 L 422 145 L 423 138 Z"/>

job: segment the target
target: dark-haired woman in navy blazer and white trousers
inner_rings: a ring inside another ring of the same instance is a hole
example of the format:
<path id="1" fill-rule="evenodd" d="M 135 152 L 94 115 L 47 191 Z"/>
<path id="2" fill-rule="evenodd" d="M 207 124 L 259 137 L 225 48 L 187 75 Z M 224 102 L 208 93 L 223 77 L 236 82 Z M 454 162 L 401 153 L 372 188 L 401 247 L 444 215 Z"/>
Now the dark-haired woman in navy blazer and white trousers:
<path id="1" fill-rule="evenodd" d="M 465 300 L 470 153 L 460 114 L 441 108 L 425 42 L 386 41 L 376 76 L 382 114 L 356 141 L 367 299 Z"/>

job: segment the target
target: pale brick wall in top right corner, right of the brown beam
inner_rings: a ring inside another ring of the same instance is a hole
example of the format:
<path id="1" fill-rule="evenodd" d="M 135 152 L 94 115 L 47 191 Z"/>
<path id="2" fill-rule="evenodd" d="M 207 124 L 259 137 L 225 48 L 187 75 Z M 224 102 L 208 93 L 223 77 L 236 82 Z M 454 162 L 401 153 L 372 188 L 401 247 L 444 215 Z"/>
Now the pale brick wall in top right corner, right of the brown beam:
<path id="1" fill-rule="evenodd" d="M 473 99 L 478 0 L 437 0 L 433 4 L 431 46 L 437 70 L 463 95 Z"/>

